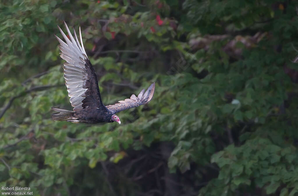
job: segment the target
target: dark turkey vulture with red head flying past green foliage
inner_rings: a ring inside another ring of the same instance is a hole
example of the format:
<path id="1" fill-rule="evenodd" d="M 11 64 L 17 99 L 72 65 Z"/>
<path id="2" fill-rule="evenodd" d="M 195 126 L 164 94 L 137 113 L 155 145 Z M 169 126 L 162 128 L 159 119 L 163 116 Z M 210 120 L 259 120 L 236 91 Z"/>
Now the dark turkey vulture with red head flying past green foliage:
<path id="1" fill-rule="evenodd" d="M 70 97 L 69 101 L 74 108 L 73 111 L 68 111 L 52 107 L 52 110 L 58 112 L 52 114 L 54 120 L 73 123 L 116 121 L 121 124 L 119 117 L 115 113 L 144 105 L 152 99 L 155 83 L 151 84 L 146 92 L 145 89 L 143 89 L 138 96 L 133 94 L 129 99 L 119 101 L 119 103 L 114 105 L 103 105 L 98 88 L 97 75 L 83 46 L 81 28 L 79 28 L 80 44 L 75 29 L 74 39 L 65 21 L 64 25 L 69 38 L 59 26 L 58 28 L 66 43 L 55 36 L 60 43 L 60 45 L 58 45 L 61 50 L 60 57 L 66 60 L 63 66 L 65 85 L 67 87 L 68 96 Z"/>

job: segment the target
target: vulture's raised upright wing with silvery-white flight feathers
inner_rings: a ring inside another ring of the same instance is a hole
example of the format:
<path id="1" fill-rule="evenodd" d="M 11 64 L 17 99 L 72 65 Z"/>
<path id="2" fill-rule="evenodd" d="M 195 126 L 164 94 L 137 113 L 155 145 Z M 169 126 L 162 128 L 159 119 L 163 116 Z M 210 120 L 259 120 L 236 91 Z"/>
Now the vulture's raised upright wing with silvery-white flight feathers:
<path id="1" fill-rule="evenodd" d="M 90 106 L 104 109 L 105 106 L 101 101 L 100 91 L 98 88 L 97 75 L 84 49 L 81 28 L 79 28 L 80 45 L 75 29 L 74 39 L 65 21 L 64 25 L 69 38 L 64 34 L 59 26 L 58 28 L 66 43 L 56 35 L 55 36 L 60 43 L 60 45 L 58 45 L 61 50 L 60 57 L 66 60 L 63 66 L 63 72 L 68 96 L 70 97 L 69 101 L 74 107 L 73 111 Z"/>

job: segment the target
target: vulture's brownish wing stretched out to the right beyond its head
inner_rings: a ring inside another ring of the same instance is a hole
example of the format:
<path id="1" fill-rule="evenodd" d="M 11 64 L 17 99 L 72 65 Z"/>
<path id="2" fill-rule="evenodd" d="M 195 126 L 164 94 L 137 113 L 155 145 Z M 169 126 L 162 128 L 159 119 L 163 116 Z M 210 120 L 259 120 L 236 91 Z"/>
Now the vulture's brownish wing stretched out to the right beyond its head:
<path id="1" fill-rule="evenodd" d="M 139 93 L 138 97 L 136 97 L 136 95 L 133 94 L 129 99 L 125 99 L 124 101 L 119 101 L 119 103 L 116 103 L 114 105 L 106 105 L 105 107 L 107 107 L 112 112 L 117 113 L 122 110 L 144 105 L 152 99 L 154 94 L 154 88 L 155 88 L 155 83 L 151 84 L 146 92 L 145 92 L 145 89 L 143 89 Z"/>

